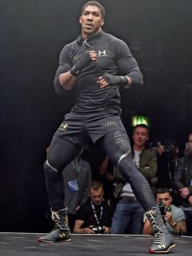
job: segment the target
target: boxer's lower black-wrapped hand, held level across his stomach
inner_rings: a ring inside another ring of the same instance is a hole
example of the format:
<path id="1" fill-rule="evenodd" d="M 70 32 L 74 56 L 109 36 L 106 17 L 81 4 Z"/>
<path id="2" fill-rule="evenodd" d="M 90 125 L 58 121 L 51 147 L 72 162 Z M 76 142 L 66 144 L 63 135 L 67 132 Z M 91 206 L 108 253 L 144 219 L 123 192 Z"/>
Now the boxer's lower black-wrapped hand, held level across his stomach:
<path id="1" fill-rule="evenodd" d="M 104 73 L 103 77 L 98 77 L 98 86 L 102 89 L 107 86 L 129 86 L 129 78 L 121 76 L 113 76 L 109 73 Z"/>

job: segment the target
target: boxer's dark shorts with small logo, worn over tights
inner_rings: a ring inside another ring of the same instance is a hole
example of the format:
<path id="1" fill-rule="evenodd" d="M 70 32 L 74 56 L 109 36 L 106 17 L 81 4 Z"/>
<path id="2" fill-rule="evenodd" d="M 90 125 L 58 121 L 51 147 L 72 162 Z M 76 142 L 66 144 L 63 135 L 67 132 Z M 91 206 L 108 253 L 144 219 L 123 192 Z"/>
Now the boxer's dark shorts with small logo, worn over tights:
<path id="1" fill-rule="evenodd" d="M 98 117 L 93 114 L 87 116 L 68 113 L 55 136 L 70 140 L 77 146 L 81 146 L 90 138 L 92 142 L 111 131 L 121 130 L 126 132 L 120 116 Z"/>

